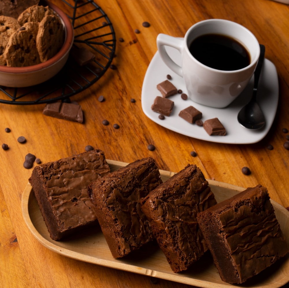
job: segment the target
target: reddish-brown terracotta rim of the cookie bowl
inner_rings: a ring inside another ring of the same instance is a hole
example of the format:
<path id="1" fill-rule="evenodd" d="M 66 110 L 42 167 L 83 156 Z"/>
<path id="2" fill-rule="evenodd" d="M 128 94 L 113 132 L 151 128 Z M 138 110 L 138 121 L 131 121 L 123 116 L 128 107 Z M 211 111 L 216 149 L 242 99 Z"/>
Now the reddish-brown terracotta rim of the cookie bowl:
<path id="1" fill-rule="evenodd" d="M 71 24 L 69 18 L 67 17 L 67 15 L 60 8 L 58 8 L 56 5 L 54 5 L 52 3 L 49 3 L 48 1 L 46 1 L 46 2 L 47 2 L 47 5 L 58 14 L 58 16 L 61 18 L 61 20 L 64 23 L 66 35 L 65 35 L 64 44 L 62 45 L 60 51 L 58 51 L 58 53 L 56 55 L 54 55 L 53 57 L 51 57 L 47 61 L 36 64 L 36 65 L 32 65 L 32 66 L 7 67 L 7 66 L 0 65 L 0 72 L 12 73 L 12 74 L 36 72 L 36 71 L 45 69 L 45 68 L 57 63 L 60 59 L 62 59 L 65 56 L 65 54 L 67 52 L 70 51 L 70 48 L 73 44 L 73 35 L 74 35 L 72 24 Z"/>

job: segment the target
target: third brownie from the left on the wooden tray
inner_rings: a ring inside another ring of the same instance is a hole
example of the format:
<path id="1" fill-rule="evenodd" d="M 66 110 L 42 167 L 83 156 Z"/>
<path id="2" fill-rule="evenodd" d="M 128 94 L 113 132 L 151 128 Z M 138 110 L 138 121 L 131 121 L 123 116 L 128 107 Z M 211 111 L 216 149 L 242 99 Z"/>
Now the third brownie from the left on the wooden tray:
<path id="1" fill-rule="evenodd" d="M 187 270 L 207 250 L 196 217 L 215 204 L 202 171 L 190 164 L 141 199 L 141 209 L 173 272 Z"/>

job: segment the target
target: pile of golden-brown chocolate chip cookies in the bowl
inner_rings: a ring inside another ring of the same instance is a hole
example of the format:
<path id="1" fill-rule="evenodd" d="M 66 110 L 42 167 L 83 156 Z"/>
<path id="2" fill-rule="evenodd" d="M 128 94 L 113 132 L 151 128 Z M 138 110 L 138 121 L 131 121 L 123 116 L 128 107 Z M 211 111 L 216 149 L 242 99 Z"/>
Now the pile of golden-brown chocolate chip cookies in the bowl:
<path id="1" fill-rule="evenodd" d="M 65 38 L 60 18 L 48 6 L 32 5 L 18 18 L 0 15 L 0 65 L 32 66 L 52 58 Z"/>

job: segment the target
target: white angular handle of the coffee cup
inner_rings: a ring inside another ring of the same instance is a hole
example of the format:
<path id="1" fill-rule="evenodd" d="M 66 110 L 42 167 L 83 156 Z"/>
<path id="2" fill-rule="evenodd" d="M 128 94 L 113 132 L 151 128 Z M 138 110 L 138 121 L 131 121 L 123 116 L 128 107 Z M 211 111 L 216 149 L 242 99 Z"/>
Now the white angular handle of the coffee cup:
<path id="1" fill-rule="evenodd" d="M 177 73 L 181 77 L 183 77 L 183 70 L 182 70 L 181 66 L 177 65 L 171 59 L 171 57 L 166 52 L 165 46 L 173 47 L 173 48 L 177 49 L 179 51 L 179 53 L 181 53 L 183 45 L 184 45 L 183 39 L 179 39 L 179 38 L 176 38 L 176 37 L 173 37 L 170 35 L 166 35 L 166 34 L 159 34 L 157 36 L 158 51 L 160 53 L 162 60 L 164 61 L 166 66 L 168 66 L 168 68 L 173 70 L 173 72 Z"/>

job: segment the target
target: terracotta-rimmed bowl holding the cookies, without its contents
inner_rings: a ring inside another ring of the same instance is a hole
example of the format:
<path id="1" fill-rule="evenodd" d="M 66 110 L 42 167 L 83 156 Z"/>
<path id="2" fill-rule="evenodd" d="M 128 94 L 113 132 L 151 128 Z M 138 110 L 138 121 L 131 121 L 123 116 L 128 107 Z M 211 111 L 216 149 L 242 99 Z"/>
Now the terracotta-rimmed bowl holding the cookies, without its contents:
<path id="1" fill-rule="evenodd" d="M 27 67 L 7 67 L 0 65 L 0 85 L 6 87 L 27 87 L 37 85 L 55 76 L 66 63 L 73 44 L 73 27 L 69 18 L 57 6 L 47 3 L 62 20 L 65 40 L 60 51 L 49 60 Z"/>

